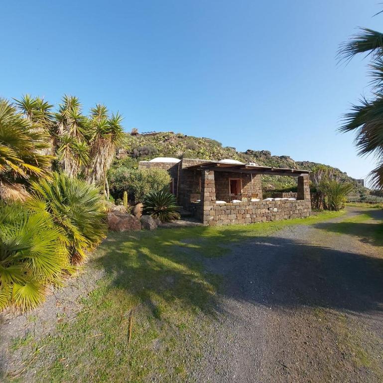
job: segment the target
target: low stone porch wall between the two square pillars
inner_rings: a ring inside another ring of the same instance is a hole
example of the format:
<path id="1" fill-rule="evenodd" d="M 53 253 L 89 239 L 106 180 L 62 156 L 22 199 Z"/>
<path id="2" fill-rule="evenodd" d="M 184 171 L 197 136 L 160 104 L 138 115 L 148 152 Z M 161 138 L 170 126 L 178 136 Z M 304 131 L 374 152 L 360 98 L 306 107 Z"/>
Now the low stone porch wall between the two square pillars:
<path id="1" fill-rule="evenodd" d="M 303 218 L 311 212 L 311 203 L 307 200 L 216 203 L 210 207 L 203 214 L 203 223 L 210 226 Z"/>

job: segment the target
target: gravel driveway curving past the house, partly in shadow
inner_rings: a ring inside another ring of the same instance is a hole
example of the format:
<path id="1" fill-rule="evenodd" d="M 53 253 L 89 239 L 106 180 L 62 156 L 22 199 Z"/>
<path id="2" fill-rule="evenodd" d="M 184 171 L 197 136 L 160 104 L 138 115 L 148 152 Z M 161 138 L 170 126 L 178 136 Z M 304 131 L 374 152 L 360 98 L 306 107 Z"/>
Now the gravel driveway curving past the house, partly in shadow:
<path id="1" fill-rule="evenodd" d="M 220 326 L 200 382 L 383 382 L 382 248 L 337 222 L 291 226 L 211 260 Z M 383 212 L 363 224 L 381 222 Z"/>

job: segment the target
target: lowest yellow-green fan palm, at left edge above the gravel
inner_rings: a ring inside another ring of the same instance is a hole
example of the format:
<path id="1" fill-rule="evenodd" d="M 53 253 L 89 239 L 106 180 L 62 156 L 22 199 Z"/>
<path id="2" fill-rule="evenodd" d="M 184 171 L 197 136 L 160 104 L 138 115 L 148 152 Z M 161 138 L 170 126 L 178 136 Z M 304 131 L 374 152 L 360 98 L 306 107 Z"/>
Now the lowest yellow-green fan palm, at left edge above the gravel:
<path id="1" fill-rule="evenodd" d="M 47 283 L 58 283 L 69 266 L 66 248 L 49 214 L 0 202 L 0 309 L 22 310 L 44 298 Z"/>

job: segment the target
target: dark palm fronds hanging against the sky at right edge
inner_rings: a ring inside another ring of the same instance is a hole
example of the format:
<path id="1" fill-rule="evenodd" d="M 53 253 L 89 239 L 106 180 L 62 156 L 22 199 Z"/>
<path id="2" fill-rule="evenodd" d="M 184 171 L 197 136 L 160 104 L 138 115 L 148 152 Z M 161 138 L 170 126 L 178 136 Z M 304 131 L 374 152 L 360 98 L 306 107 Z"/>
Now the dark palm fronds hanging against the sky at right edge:
<path id="1" fill-rule="evenodd" d="M 361 28 L 359 34 L 341 45 L 339 58 L 349 61 L 359 53 L 371 59 L 372 97 L 363 97 L 360 105 L 353 105 L 339 130 L 356 133 L 358 155 L 376 156 L 378 166 L 370 173 L 370 178 L 373 188 L 383 189 L 383 33 Z"/>

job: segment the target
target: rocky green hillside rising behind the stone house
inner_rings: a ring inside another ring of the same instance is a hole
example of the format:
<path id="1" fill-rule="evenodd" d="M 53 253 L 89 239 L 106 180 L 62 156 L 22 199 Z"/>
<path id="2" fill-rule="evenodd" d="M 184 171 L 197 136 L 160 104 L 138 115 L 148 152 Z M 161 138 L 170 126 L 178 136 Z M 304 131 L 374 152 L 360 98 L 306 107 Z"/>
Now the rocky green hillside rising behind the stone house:
<path id="1" fill-rule="evenodd" d="M 186 136 L 182 133 L 158 133 L 155 135 L 131 136 L 126 134 L 121 147 L 117 150 L 114 167 L 136 167 L 139 161 L 153 157 L 200 158 L 206 160 L 223 160 L 230 158 L 244 163 L 254 162 L 258 165 L 275 168 L 312 170 L 321 165 L 310 161 L 294 161 L 289 156 L 272 156 L 267 150 L 237 152 L 235 148 L 223 147 L 216 140 L 205 137 Z M 353 182 L 354 179 L 341 172 L 341 179 Z M 295 185 L 290 177 L 263 176 L 266 187 L 283 189 Z"/>

